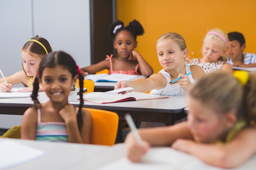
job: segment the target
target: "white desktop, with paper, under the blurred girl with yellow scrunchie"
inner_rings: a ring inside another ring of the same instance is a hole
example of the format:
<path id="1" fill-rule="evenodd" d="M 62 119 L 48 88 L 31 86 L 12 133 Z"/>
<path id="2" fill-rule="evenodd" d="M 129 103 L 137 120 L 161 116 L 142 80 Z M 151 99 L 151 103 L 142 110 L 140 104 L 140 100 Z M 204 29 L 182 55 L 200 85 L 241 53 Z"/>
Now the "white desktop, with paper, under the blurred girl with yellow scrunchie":
<path id="1" fill-rule="evenodd" d="M 81 170 L 85 167 L 97 170 L 224 170 L 170 147 L 150 148 L 140 163 L 132 163 L 126 158 L 124 144 L 116 144 L 97 157 L 91 157 L 70 170 Z M 242 166 L 229 170 L 255 170 L 255 167 L 256 155 Z"/>

